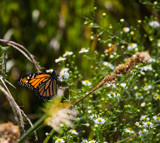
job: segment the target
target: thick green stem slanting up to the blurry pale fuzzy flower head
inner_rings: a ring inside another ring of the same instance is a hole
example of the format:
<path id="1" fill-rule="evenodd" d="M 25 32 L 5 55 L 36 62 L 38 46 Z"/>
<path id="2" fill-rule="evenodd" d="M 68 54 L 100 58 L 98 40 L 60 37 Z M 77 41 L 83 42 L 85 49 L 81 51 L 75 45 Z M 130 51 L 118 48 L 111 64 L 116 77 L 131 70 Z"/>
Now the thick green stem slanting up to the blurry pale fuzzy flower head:
<path id="1" fill-rule="evenodd" d="M 21 138 L 18 140 L 17 143 L 23 143 L 23 141 L 25 140 L 25 138 L 27 136 L 29 136 L 31 133 L 33 133 L 45 120 L 45 118 L 47 117 L 47 115 L 43 115 L 34 125 L 33 127 L 30 127 L 22 136 Z"/>

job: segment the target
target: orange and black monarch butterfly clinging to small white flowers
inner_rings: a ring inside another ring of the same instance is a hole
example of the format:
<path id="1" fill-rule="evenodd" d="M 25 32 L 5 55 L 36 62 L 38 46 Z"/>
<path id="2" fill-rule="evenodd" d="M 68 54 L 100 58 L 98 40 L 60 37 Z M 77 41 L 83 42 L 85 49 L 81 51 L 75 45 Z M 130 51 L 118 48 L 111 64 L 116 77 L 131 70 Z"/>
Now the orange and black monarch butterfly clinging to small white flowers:
<path id="1" fill-rule="evenodd" d="M 52 73 L 31 73 L 21 77 L 18 83 L 35 91 L 36 95 L 43 100 L 50 100 L 57 92 L 57 76 Z"/>

